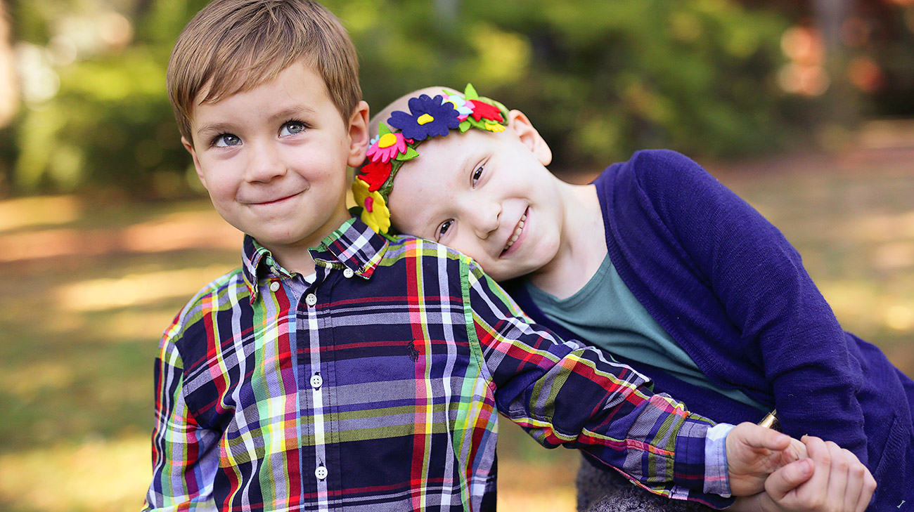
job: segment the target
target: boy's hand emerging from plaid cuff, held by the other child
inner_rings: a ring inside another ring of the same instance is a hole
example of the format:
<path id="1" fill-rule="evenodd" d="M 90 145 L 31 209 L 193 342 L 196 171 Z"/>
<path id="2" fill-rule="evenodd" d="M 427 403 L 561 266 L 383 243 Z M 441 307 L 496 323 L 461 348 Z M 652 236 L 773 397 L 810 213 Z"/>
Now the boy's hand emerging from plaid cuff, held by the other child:
<path id="1" fill-rule="evenodd" d="M 727 435 L 730 494 L 760 493 L 768 475 L 805 457 L 806 446 L 791 436 L 755 423 L 739 423 Z"/>

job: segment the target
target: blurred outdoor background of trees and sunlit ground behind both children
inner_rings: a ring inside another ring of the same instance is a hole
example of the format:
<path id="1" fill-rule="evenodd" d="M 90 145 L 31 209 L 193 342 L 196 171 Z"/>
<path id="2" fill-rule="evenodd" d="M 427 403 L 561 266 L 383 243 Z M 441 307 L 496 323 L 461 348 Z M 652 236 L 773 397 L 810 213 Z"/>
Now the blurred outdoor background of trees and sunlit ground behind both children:
<path id="1" fill-rule="evenodd" d="M 165 97 L 205 3 L 0 0 L 0 510 L 140 507 L 157 340 L 239 264 Z M 376 107 L 472 81 L 524 110 L 573 182 L 640 148 L 689 154 L 914 374 L 914 1 L 325 5 Z M 573 509 L 577 455 L 502 431 L 500 507 Z"/>

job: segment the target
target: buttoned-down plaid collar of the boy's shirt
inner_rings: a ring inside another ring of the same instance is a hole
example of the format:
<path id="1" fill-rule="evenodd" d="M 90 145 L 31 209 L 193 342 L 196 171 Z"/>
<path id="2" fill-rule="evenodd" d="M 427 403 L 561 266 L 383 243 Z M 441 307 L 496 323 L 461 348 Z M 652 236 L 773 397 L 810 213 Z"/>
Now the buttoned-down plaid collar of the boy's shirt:
<path id="1" fill-rule="evenodd" d="M 321 245 L 308 249 L 314 263 L 329 268 L 350 268 L 359 277 L 369 278 L 387 249 L 388 240 L 378 235 L 360 219 L 353 217 L 340 225 L 321 241 Z M 261 278 L 275 274 L 282 278 L 292 273 L 282 268 L 270 253 L 250 235 L 244 235 L 241 272 L 250 291 L 251 301 L 257 298 L 257 283 Z"/>

